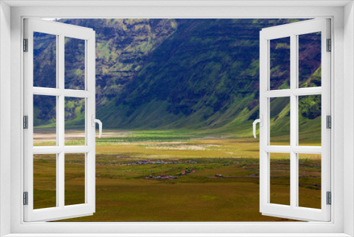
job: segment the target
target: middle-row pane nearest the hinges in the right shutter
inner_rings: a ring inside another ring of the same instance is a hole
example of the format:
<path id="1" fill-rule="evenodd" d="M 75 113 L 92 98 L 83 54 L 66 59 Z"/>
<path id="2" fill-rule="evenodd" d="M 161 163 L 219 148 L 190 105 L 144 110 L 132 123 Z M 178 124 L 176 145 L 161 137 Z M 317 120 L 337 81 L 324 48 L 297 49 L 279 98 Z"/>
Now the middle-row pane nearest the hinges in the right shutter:
<path id="1" fill-rule="evenodd" d="M 321 95 L 299 97 L 299 145 L 321 146 Z"/>

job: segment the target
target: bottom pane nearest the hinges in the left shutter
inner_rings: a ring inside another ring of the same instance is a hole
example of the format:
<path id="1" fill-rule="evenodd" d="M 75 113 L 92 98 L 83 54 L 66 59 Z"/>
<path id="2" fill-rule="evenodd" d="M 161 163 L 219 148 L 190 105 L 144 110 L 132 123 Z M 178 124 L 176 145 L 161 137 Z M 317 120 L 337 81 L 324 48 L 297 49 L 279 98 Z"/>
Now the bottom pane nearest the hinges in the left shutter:
<path id="1" fill-rule="evenodd" d="M 33 209 L 57 206 L 57 155 L 33 155 Z"/>

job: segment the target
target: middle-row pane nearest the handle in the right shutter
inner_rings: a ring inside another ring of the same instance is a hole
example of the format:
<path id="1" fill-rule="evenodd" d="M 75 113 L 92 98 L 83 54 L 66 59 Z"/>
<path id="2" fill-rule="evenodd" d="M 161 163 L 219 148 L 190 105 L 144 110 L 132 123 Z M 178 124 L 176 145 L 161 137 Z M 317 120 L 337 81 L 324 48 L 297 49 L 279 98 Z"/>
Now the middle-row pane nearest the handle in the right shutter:
<path id="1" fill-rule="evenodd" d="M 270 98 L 270 145 L 290 145 L 290 97 Z"/>

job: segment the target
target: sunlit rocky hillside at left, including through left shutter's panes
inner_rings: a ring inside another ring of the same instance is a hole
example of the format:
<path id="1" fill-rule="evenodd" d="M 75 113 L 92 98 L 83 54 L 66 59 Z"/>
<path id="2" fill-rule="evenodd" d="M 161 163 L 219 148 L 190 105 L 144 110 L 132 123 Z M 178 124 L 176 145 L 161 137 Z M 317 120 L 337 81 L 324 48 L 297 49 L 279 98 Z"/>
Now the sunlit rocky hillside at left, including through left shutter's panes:
<path id="1" fill-rule="evenodd" d="M 105 104 L 120 93 L 127 82 L 137 75 L 154 48 L 176 31 L 173 19 L 60 19 L 62 23 L 93 28 L 96 31 L 96 106 Z M 42 33 L 34 35 L 34 86 L 55 87 L 55 37 Z M 80 89 L 84 69 L 84 46 L 81 40 L 65 40 L 65 87 Z M 82 50 L 81 50 L 82 52 Z M 55 101 L 43 106 L 40 97 L 34 98 L 35 126 L 50 127 L 55 121 Z M 75 106 L 82 106 L 81 103 Z M 50 115 L 48 115 L 50 114 Z M 77 124 L 80 116 L 66 113 L 72 120 L 67 127 Z M 36 119 L 38 118 L 38 119 Z M 74 124 L 70 124 L 74 123 Z"/>

